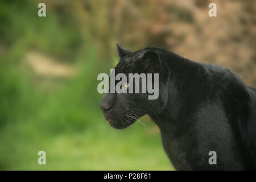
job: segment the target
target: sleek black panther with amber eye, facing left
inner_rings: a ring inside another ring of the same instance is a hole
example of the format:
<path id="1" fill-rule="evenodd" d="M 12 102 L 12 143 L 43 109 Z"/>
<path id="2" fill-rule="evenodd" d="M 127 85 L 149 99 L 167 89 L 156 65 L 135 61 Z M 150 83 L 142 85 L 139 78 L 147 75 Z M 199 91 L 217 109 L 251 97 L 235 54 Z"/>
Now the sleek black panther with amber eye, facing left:
<path id="1" fill-rule="evenodd" d="M 100 107 L 112 127 L 124 129 L 148 114 L 177 170 L 256 169 L 256 88 L 230 69 L 163 48 L 117 48 L 115 72 L 159 73 L 159 97 L 107 93 Z M 217 164 L 209 164 L 209 151 L 216 151 Z"/>

